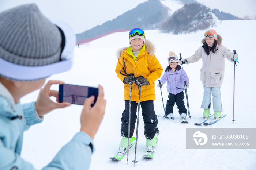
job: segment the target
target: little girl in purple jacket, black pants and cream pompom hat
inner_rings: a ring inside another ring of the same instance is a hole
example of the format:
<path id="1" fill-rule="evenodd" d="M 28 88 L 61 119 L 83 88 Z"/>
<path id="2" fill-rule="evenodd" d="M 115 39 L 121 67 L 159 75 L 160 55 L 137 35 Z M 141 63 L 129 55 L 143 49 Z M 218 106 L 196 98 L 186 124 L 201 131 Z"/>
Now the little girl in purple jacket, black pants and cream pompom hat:
<path id="1" fill-rule="evenodd" d="M 175 119 L 173 116 L 173 106 L 176 103 L 182 120 L 186 120 L 187 109 L 184 105 L 184 93 L 185 88 L 189 87 L 189 79 L 186 72 L 181 68 L 179 59 L 173 51 L 170 51 L 168 57 L 169 66 L 166 68 L 160 82 L 161 85 L 167 81 L 167 91 L 169 92 L 166 103 L 165 116 L 169 119 Z M 184 83 L 186 81 L 186 84 Z M 160 84 L 157 85 L 160 87 Z M 162 87 L 162 86 L 161 86 Z"/>

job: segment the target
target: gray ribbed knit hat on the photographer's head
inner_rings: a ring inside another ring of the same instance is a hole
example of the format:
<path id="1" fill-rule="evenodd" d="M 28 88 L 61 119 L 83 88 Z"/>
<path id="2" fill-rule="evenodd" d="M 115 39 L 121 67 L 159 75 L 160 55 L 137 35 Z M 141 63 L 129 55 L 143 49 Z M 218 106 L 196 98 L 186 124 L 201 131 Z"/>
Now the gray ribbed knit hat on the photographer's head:
<path id="1" fill-rule="evenodd" d="M 0 58 L 23 66 L 60 61 L 61 34 L 35 4 L 0 13 Z"/>

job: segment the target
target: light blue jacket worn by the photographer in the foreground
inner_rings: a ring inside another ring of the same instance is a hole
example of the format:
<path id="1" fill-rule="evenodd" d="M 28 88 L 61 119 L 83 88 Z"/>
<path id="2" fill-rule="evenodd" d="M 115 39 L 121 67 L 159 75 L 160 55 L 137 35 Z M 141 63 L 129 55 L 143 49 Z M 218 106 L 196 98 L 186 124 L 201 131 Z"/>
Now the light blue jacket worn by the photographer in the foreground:
<path id="1" fill-rule="evenodd" d="M 15 104 L 11 93 L 0 83 L 0 170 L 34 170 L 31 163 L 20 157 L 23 132 L 41 123 L 42 118 L 35 110 L 35 102 Z M 88 170 L 93 152 L 93 140 L 79 132 L 43 170 Z"/>

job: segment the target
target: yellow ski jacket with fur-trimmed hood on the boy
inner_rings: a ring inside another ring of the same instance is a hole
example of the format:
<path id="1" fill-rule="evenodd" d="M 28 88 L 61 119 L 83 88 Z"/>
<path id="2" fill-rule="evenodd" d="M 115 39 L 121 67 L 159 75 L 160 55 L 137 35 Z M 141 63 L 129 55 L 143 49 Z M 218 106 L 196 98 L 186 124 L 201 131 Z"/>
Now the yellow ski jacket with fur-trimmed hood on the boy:
<path id="1" fill-rule="evenodd" d="M 128 48 L 117 51 L 118 62 L 116 65 L 117 77 L 123 82 L 126 77 L 125 72 L 134 74 L 133 77 L 143 76 L 147 78 L 149 85 L 141 88 L 140 101 L 155 100 L 155 81 L 161 77 L 163 68 L 155 57 L 155 47 L 153 43 L 146 40 L 145 50 L 141 50 L 139 56 L 133 61 L 131 55 L 127 53 Z M 125 72 L 124 72 L 125 71 Z M 124 75 L 123 75 L 124 74 Z M 124 84 L 124 100 L 130 100 L 130 85 Z M 132 101 L 139 101 L 139 86 L 132 84 Z"/>

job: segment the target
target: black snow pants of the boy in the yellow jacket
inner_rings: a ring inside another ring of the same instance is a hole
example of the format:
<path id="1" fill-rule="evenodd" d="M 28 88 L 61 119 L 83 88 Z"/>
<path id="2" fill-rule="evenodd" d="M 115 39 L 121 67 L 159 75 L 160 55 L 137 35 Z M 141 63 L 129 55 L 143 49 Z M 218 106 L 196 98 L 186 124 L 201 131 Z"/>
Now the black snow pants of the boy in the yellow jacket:
<path id="1" fill-rule="evenodd" d="M 129 123 L 129 100 L 125 100 L 125 109 L 122 113 L 122 126 L 121 126 L 121 136 L 128 138 L 128 123 Z M 137 119 L 137 105 L 136 101 L 131 102 L 131 129 L 130 129 L 130 138 L 132 137 L 135 129 L 135 123 Z M 153 139 L 155 134 L 158 134 L 157 128 L 157 115 L 154 111 L 153 100 L 147 100 L 140 102 L 142 116 L 144 120 L 144 135 L 146 139 Z"/>

